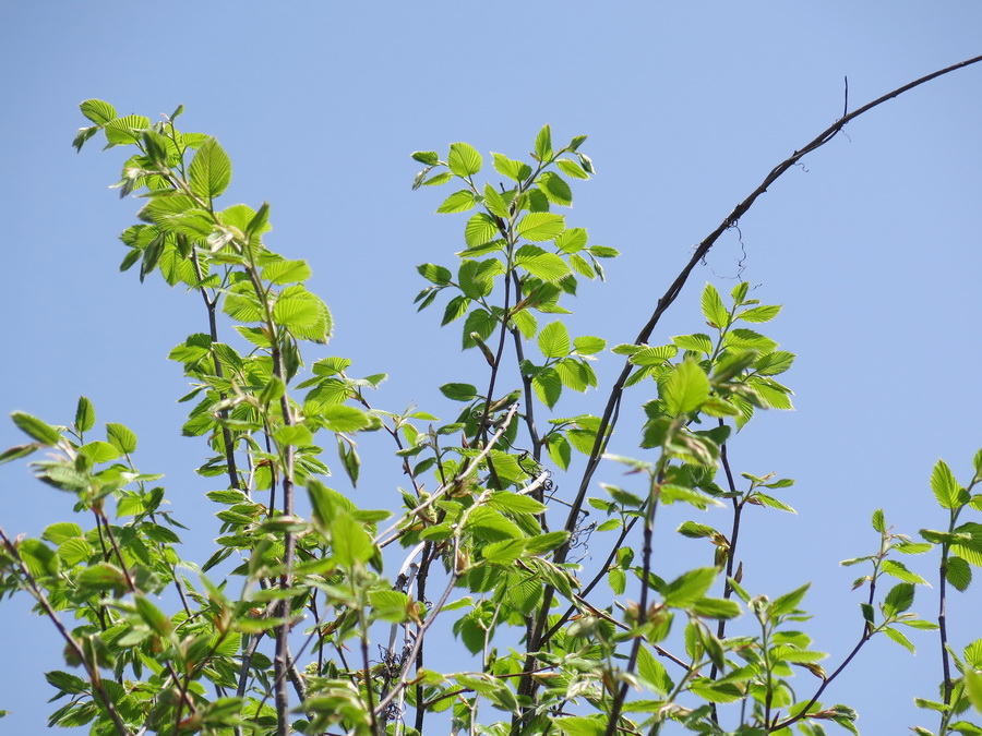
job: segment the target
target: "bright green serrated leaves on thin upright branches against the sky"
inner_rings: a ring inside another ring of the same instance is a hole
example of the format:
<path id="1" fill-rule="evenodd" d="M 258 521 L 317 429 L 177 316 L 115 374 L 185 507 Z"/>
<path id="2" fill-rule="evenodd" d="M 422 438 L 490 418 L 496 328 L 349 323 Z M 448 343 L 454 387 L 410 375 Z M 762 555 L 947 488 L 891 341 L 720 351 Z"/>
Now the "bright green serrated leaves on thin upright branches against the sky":
<path id="1" fill-rule="evenodd" d="M 792 407 L 779 376 L 794 355 L 758 331 L 780 307 L 750 298 L 746 282 L 726 297 L 707 285 L 705 331 L 651 345 L 648 329 L 609 351 L 603 337 L 571 335 L 568 298 L 602 281 L 604 260 L 618 255 L 563 214 L 571 182 L 595 173 L 586 136 L 558 145 L 544 126 L 529 160 L 492 154 L 495 183 L 479 178 L 484 159 L 466 143 L 444 158 L 412 154 L 424 167 L 414 186 L 453 184 L 438 213 L 466 215 L 452 265 L 418 268 L 428 283 L 418 309 L 439 304 L 441 326 L 460 330 L 480 366 L 441 387 L 459 403 L 442 422 L 373 406 L 384 375 L 355 377 L 345 358 L 304 361 L 332 334 L 330 310 L 306 287 L 311 269 L 264 244 L 267 204 L 219 208 L 229 156 L 214 137 L 179 131 L 181 108 L 151 124 L 101 100 L 81 107 L 92 125 L 75 147 L 98 133 L 107 147 L 127 146 L 117 186 L 145 200 L 121 236 L 121 269 L 159 274 L 203 300 L 205 329 L 170 359 L 191 383 L 182 431 L 211 450 L 197 472 L 221 486 L 207 494 L 221 536 L 200 565 L 182 559 L 192 530 L 167 510 L 160 475 L 137 469 L 127 426 L 95 432 L 87 398 L 64 426 L 13 414 L 29 442 L 0 460 L 46 450 L 36 476 L 76 499 L 76 518 L 39 539 L 0 532 L 0 594 L 32 595 L 65 641 L 67 669 L 47 675 L 63 701 L 51 725 L 91 724 L 97 735 L 592 736 L 670 723 L 817 735 L 835 723 L 858 733 L 852 708 L 819 701 L 826 687 L 873 637 L 912 650 L 905 630 L 938 629 L 939 700 L 919 704 L 941 725 L 915 731 L 982 733 L 966 720 L 982 707 L 982 640 L 956 650 L 944 614 L 948 587 L 965 591 L 982 565 L 982 523 L 967 519 L 982 510 L 982 451 L 963 485 L 938 461 L 930 487 L 947 526 L 922 530 L 923 541 L 873 515 L 876 551 L 843 563 L 864 567 L 858 643 L 826 671 L 802 630 L 809 586 L 747 591 L 738 554 L 744 514 L 793 510 L 781 497 L 790 479 L 734 475 L 727 455 L 756 412 Z M 568 391 L 599 388 L 594 363 L 604 352 L 626 362 L 602 414 L 556 411 Z M 604 455 L 622 391 L 634 386 L 649 397 L 637 457 Z M 355 484 L 364 432 L 392 439 L 393 455 L 372 462 L 405 474 L 397 512 L 359 508 L 325 484 L 322 445 Z M 603 458 L 627 469 L 623 487 L 595 487 Z M 554 497 L 555 473 L 578 488 L 573 498 Z M 601 523 L 585 524 L 587 505 Z M 672 578 L 652 553 L 668 505 L 729 516 L 727 529 L 678 528 L 708 545 L 702 566 Z M 604 558 L 598 570 L 571 559 L 587 536 Z M 941 560 L 937 624 L 911 611 L 927 581 L 900 560 L 929 552 Z M 754 628 L 735 635 L 728 623 L 740 615 Z M 428 664 L 441 636 L 472 655 L 460 669 Z M 793 684 L 801 673 L 810 679 Z"/>

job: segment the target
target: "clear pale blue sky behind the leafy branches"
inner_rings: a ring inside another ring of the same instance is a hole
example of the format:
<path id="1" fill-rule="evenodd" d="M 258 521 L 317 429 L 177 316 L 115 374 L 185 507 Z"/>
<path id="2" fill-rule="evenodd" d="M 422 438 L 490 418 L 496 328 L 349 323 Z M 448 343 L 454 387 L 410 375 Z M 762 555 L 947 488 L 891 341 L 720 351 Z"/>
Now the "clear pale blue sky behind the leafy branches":
<path id="1" fill-rule="evenodd" d="M 410 191 L 410 152 L 467 141 L 486 157 L 520 157 L 546 122 L 558 138 L 589 134 L 582 150 L 598 176 L 574 186 L 567 222 L 622 256 L 607 285 L 583 285 L 571 331 L 626 342 L 692 245 L 841 114 L 845 76 L 854 108 L 982 52 L 980 27 L 977 3 L 906 0 L 4 3 L 0 410 L 68 423 L 88 396 L 100 422 L 140 435 L 137 462 L 167 473 L 171 497 L 189 504 L 178 516 L 203 524 L 206 547 L 211 486 L 189 472 L 206 449 L 179 436 L 185 384 L 166 361 L 201 329 L 200 303 L 118 273 L 117 236 L 137 203 L 107 189 L 119 152 L 71 148 L 83 99 L 152 118 L 183 104 L 184 130 L 218 136 L 232 158 L 228 203 L 268 201 L 270 245 L 313 267 L 311 288 L 335 317 L 330 353 L 391 375 L 380 406 L 416 402 L 450 418 L 457 408 L 436 387 L 474 376 L 478 362 L 459 352 L 456 327 L 439 329 L 438 311 L 417 314 L 410 302 L 423 286 L 415 266 L 451 264 L 464 219 L 432 214 L 448 191 Z M 742 246 L 723 236 L 652 338 L 698 331 L 702 286 L 729 290 L 741 257 L 755 295 L 785 305 L 765 331 L 799 355 L 786 376 L 797 411 L 753 423 L 730 454 L 741 471 L 797 479 L 786 498 L 799 516 L 752 515 L 745 580 L 774 595 L 811 580 L 805 603 L 828 663 L 860 631 L 854 569 L 838 562 L 875 550 L 871 512 L 884 508 L 903 532 L 942 526 L 932 466 L 944 457 L 963 479 L 982 446 L 980 93 L 982 67 L 850 124 L 741 220 Z M 606 358 L 601 377 L 619 367 Z M 591 394 L 564 411 L 599 413 L 602 400 Z M 622 450 L 636 427 L 636 414 L 621 424 Z M 0 424 L 0 445 L 20 442 Z M 367 438 L 362 455 L 372 453 L 387 448 Z M 367 469 L 360 505 L 397 503 L 398 474 L 382 464 Z M 616 479 L 606 473 L 598 480 Z M 9 534 L 38 534 L 70 510 L 23 464 L 0 469 Z M 682 569 L 703 551 L 671 539 L 692 516 L 679 514 L 661 533 L 669 568 Z M 933 557 L 907 562 L 934 575 Z M 950 602 L 956 643 L 982 636 L 970 626 L 979 604 L 978 588 Z M 0 668 L 11 733 L 43 727 L 43 673 L 63 666 L 28 607 L 0 606 L 0 645 L 16 663 Z M 921 591 L 924 616 L 935 607 Z M 874 641 L 825 700 L 860 707 L 865 733 L 932 725 L 911 699 L 934 695 L 939 655 L 932 636 L 915 643 L 911 657 Z"/>

